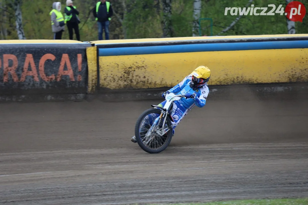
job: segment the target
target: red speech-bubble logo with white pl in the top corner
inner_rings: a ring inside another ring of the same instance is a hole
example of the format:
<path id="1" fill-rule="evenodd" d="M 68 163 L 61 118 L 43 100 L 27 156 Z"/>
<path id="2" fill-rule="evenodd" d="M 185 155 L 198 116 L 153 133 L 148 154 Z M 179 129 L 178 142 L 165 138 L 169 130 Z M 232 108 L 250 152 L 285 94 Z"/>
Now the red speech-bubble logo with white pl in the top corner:
<path id="1" fill-rule="evenodd" d="M 303 18 L 306 15 L 306 8 L 304 4 L 298 1 L 288 3 L 286 6 L 286 16 L 290 21 L 303 22 Z"/>

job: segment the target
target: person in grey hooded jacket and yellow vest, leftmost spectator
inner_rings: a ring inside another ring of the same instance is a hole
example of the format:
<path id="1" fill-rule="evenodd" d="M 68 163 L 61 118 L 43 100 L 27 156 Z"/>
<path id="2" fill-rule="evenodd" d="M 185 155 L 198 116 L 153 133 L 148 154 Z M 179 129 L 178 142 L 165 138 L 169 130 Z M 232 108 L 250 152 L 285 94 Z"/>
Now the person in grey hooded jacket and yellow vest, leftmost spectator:
<path id="1" fill-rule="evenodd" d="M 49 13 L 51 17 L 51 29 L 54 32 L 54 39 L 61 39 L 64 31 L 64 18 L 61 13 L 61 2 L 53 2 L 52 10 Z"/>

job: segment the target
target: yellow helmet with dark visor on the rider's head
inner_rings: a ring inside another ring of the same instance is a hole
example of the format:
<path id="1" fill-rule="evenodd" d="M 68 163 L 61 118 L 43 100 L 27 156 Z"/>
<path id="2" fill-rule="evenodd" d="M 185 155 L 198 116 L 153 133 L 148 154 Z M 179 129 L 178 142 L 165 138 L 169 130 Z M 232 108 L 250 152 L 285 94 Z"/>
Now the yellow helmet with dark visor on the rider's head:
<path id="1" fill-rule="evenodd" d="M 211 70 L 206 66 L 199 66 L 196 68 L 192 73 L 192 82 L 190 83 L 190 87 L 193 88 L 193 90 L 196 90 L 197 88 L 202 87 L 205 85 L 210 77 L 211 77 Z"/>

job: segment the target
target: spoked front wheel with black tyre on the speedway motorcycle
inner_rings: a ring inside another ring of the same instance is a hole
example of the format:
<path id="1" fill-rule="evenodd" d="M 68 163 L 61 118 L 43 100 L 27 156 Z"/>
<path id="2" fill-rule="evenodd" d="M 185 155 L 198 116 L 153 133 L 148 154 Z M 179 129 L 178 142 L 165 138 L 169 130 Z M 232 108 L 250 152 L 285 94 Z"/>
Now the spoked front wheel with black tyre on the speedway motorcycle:
<path id="1" fill-rule="evenodd" d="M 171 142 L 172 138 L 172 124 L 167 117 L 164 128 L 169 128 L 163 136 L 160 136 L 153 129 L 150 136 L 146 137 L 148 130 L 151 128 L 154 120 L 160 116 L 161 110 L 152 108 L 144 111 L 138 118 L 135 126 L 135 137 L 138 145 L 145 152 L 154 154 L 164 151 Z"/>

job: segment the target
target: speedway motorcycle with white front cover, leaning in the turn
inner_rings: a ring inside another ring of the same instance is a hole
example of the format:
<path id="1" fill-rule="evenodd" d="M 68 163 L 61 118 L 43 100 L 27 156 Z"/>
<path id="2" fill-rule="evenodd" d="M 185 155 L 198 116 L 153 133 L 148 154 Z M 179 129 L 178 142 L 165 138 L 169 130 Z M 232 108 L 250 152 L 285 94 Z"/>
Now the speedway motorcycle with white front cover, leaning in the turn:
<path id="1" fill-rule="evenodd" d="M 135 126 L 136 141 L 140 148 L 148 153 L 164 151 L 171 142 L 172 122 L 171 117 L 175 101 L 185 98 L 185 95 L 168 93 L 165 95 L 164 107 L 151 105 L 154 108 L 145 110 L 138 118 Z M 191 95 L 190 97 L 193 97 Z"/>

